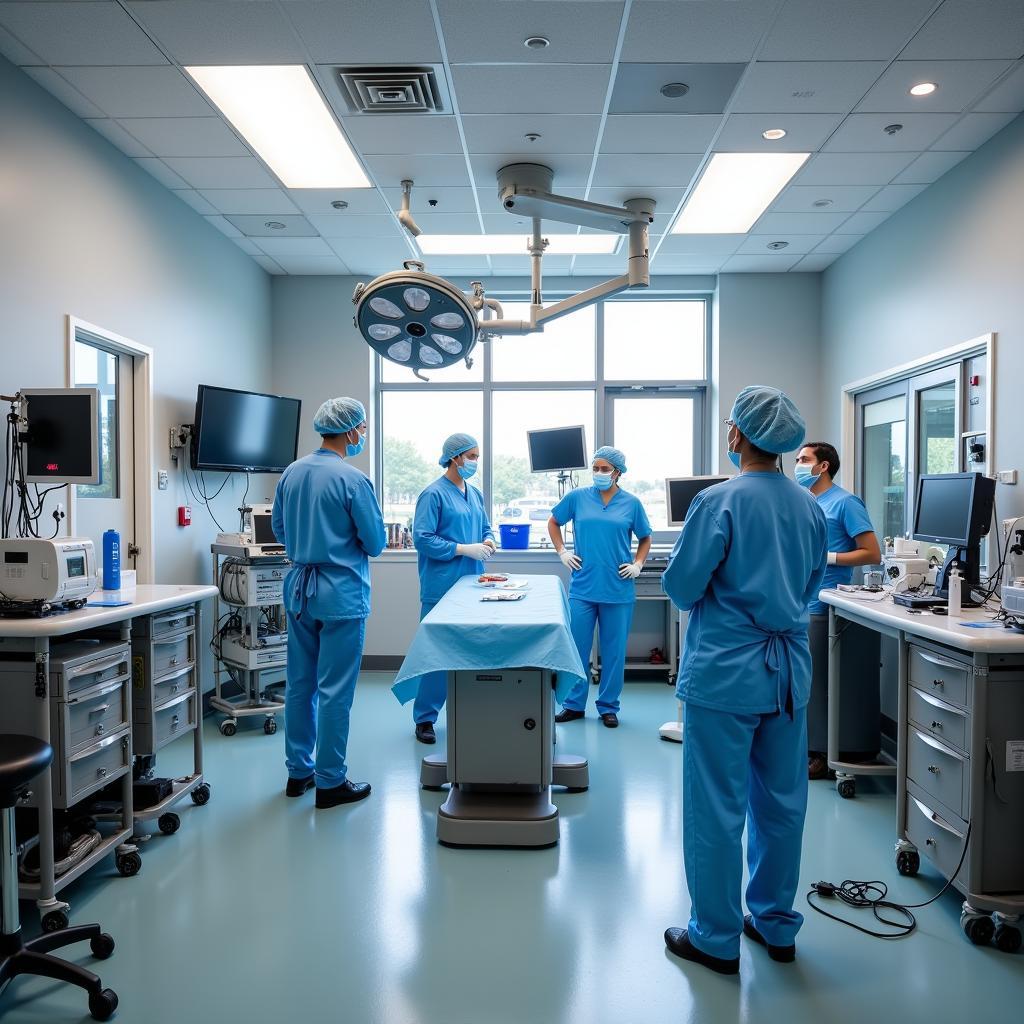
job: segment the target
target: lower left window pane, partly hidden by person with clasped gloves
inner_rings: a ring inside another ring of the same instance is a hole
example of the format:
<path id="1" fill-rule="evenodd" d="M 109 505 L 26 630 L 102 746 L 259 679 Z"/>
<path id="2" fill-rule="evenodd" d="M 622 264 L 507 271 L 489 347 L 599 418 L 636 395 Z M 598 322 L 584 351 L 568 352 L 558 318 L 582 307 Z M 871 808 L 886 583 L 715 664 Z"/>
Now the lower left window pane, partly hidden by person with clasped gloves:
<path id="1" fill-rule="evenodd" d="M 482 437 L 483 398 L 479 391 L 385 391 L 381 421 L 384 519 L 412 525 L 417 497 L 442 472 L 437 460 L 444 438 L 460 431 Z"/>

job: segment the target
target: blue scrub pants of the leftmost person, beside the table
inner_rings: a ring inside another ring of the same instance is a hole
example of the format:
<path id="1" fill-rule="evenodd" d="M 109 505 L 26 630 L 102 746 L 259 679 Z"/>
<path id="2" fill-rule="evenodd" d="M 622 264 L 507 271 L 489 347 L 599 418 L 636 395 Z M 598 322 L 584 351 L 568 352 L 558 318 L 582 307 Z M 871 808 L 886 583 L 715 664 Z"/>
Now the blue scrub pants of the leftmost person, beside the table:
<path id="1" fill-rule="evenodd" d="M 365 618 L 288 613 L 285 764 L 289 778 L 331 788 L 345 781 L 348 719 L 362 658 Z M 313 760 L 313 749 L 316 759 Z"/>

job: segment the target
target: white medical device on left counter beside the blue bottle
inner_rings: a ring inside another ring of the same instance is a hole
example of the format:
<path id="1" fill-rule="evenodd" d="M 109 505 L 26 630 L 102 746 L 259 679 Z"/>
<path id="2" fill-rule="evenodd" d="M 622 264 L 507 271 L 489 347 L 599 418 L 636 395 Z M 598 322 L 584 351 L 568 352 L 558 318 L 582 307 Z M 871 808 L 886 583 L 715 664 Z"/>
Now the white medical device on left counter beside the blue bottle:
<path id="1" fill-rule="evenodd" d="M 81 607 L 96 589 L 96 553 L 84 537 L 0 541 L 0 601 L 10 610 L 45 613 L 52 605 Z"/>

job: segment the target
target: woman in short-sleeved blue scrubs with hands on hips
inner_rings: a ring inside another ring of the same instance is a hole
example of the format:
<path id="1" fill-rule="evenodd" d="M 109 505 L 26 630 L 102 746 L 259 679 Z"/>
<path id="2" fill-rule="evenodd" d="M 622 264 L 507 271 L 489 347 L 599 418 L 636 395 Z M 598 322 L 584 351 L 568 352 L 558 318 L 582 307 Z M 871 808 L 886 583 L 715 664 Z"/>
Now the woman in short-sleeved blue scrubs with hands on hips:
<path id="1" fill-rule="evenodd" d="M 626 672 L 626 641 L 633 622 L 636 585 L 650 551 L 650 523 L 640 499 L 623 490 L 626 456 L 608 445 L 594 453 L 593 485 L 570 490 L 552 510 L 548 535 L 569 580 L 569 617 L 580 660 L 590 664 L 594 627 L 601 651 L 601 684 L 597 713 L 609 729 L 618 725 L 618 698 Z M 568 551 L 562 526 L 571 522 L 575 553 Z M 633 538 L 639 541 L 634 557 Z M 587 680 L 582 679 L 565 698 L 556 722 L 584 717 Z"/>

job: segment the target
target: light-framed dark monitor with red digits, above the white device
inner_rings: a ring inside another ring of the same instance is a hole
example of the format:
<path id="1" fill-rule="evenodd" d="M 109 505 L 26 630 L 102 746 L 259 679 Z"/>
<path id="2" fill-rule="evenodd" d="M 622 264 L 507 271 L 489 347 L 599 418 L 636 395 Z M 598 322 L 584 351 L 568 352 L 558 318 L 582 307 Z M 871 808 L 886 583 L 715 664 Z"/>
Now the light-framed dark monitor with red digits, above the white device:
<path id="1" fill-rule="evenodd" d="M 99 483 L 99 389 L 22 388 L 28 483 Z"/>

